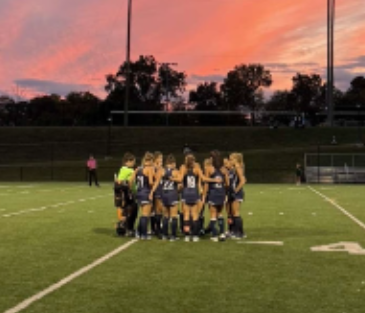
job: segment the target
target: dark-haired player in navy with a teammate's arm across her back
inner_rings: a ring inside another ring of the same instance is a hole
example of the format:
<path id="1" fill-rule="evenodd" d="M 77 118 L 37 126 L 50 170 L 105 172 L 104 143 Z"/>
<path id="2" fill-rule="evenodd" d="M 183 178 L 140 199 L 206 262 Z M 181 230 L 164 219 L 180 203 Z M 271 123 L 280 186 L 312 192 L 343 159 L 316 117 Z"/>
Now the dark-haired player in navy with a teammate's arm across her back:
<path id="1" fill-rule="evenodd" d="M 224 204 L 227 200 L 226 189 L 229 186 L 228 171 L 223 166 L 223 159 L 219 151 L 214 150 L 210 154 L 212 165 L 208 166 L 205 175 L 211 179 L 220 179 L 220 183 L 209 183 L 205 185 L 204 194 L 208 199 L 210 212 L 210 229 L 212 231 L 211 239 L 218 241 L 218 232 L 216 223 L 218 220 L 219 235 L 221 240 L 225 240 L 224 218 L 222 215 Z"/>

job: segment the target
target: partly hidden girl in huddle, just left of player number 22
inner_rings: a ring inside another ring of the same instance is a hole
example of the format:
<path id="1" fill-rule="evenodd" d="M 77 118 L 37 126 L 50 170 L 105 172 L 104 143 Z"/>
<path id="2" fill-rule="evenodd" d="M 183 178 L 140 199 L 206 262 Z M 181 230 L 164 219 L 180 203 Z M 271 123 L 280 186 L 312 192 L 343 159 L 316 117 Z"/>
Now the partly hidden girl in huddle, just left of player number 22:
<path id="1" fill-rule="evenodd" d="M 155 180 L 157 179 L 157 173 L 162 168 L 163 165 L 163 154 L 159 151 L 154 153 L 154 167 L 155 167 Z M 162 185 L 159 184 L 154 193 L 153 198 L 153 207 L 151 214 L 151 231 L 157 236 L 160 237 L 161 234 L 161 220 L 163 213 L 163 204 L 162 204 Z"/>

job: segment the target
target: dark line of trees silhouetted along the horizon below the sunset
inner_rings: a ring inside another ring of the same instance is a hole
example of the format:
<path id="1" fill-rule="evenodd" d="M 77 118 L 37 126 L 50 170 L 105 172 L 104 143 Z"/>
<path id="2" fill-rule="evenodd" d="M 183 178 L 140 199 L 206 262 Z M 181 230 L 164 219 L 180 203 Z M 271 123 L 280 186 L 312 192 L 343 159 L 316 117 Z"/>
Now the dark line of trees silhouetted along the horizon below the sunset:
<path id="1" fill-rule="evenodd" d="M 90 92 L 71 92 L 62 98 L 51 94 L 29 101 L 15 101 L 0 96 L 0 125 L 5 126 L 102 126 L 110 121 L 110 111 L 123 111 L 127 65 L 115 74 L 106 75 L 107 97 L 100 99 Z M 140 56 L 130 64 L 130 111 L 286 111 L 304 114 L 313 124 L 317 113 L 326 111 L 327 85 L 318 74 L 297 73 L 291 89 L 275 91 L 267 100 L 265 88 L 273 83 L 269 69 L 262 64 L 240 64 L 229 71 L 223 82 L 198 84 L 186 99 L 187 75 L 173 65 L 159 63 L 153 56 Z M 334 105 L 339 111 L 365 108 L 365 77 L 354 78 L 346 92 L 334 86 Z M 244 124 L 247 116 L 217 115 L 172 116 L 173 125 Z M 255 116 L 252 116 L 253 118 Z M 269 119 L 289 123 L 290 116 Z M 131 116 L 131 125 L 164 124 L 166 115 Z M 121 123 L 120 120 L 117 124 Z M 251 123 L 254 121 L 251 120 Z"/>

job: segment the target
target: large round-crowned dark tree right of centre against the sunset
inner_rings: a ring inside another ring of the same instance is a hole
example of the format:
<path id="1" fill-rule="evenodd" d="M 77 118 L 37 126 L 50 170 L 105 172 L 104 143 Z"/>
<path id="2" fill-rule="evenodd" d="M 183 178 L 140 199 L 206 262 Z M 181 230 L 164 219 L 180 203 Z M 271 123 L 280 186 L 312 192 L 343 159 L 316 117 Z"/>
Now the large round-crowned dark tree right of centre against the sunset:
<path id="1" fill-rule="evenodd" d="M 272 76 L 261 64 L 238 65 L 225 78 L 221 91 L 227 109 L 236 110 L 240 106 L 248 106 L 258 110 L 262 104 L 258 92 L 270 87 Z"/>

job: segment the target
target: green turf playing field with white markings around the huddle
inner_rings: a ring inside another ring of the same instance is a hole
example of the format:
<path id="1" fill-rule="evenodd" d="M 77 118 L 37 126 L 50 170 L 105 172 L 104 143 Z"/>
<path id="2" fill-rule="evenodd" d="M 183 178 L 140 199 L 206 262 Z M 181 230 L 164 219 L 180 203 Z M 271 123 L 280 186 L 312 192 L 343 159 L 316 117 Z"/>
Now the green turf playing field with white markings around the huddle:
<path id="1" fill-rule="evenodd" d="M 246 240 L 172 243 L 116 237 L 111 185 L 1 183 L 0 312 L 362 313 L 364 251 L 311 248 L 365 248 L 363 187 L 311 188 L 248 185 Z"/>

